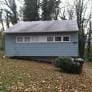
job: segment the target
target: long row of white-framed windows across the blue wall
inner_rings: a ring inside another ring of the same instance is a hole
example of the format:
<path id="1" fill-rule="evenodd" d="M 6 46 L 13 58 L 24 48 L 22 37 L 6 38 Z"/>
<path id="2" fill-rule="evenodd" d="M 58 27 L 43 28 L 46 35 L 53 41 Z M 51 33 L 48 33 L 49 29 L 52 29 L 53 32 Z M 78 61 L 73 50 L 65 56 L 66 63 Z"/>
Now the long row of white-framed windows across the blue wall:
<path id="1" fill-rule="evenodd" d="M 16 43 L 70 42 L 70 35 L 62 36 L 16 36 Z"/>

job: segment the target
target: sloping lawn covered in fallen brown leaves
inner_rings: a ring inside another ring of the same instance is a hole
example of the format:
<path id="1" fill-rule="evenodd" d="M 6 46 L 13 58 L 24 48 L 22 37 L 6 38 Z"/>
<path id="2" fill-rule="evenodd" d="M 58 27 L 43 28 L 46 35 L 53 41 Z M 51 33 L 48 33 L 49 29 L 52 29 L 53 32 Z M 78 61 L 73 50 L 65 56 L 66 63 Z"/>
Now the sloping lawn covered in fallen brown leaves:
<path id="1" fill-rule="evenodd" d="M 87 74 L 59 72 L 53 65 L 0 57 L 0 92 L 92 92 Z"/>

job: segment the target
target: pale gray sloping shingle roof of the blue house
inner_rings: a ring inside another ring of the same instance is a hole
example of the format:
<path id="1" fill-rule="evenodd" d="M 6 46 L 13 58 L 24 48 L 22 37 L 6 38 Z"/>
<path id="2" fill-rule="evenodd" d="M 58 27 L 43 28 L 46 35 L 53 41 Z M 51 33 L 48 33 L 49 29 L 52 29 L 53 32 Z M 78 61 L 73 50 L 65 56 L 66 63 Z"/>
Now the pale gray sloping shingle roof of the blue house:
<path id="1" fill-rule="evenodd" d="M 32 21 L 17 23 L 5 33 L 69 32 L 78 31 L 75 20 Z"/>

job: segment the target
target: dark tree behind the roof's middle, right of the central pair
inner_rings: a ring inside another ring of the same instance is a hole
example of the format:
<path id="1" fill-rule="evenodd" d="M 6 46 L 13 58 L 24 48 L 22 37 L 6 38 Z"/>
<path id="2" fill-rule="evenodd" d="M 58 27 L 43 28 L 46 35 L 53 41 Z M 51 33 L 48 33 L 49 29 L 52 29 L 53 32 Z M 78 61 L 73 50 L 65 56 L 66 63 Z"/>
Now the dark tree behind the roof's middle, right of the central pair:
<path id="1" fill-rule="evenodd" d="M 42 1 L 42 20 L 58 19 L 60 0 Z"/>

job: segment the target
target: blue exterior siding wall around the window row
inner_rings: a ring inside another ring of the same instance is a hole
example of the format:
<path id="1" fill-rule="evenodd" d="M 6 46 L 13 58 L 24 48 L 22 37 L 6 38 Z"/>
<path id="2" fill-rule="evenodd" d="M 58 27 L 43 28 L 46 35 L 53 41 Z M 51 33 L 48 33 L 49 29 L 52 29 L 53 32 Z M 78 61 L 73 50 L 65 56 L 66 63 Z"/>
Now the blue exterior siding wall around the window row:
<path id="1" fill-rule="evenodd" d="M 70 42 L 16 43 L 16 36 L 35 34 L 6 34 L 6 56 L 78 56 L 78 32 L 57 34 L 36 34 L 42 36 L 70 35 Z"/>

